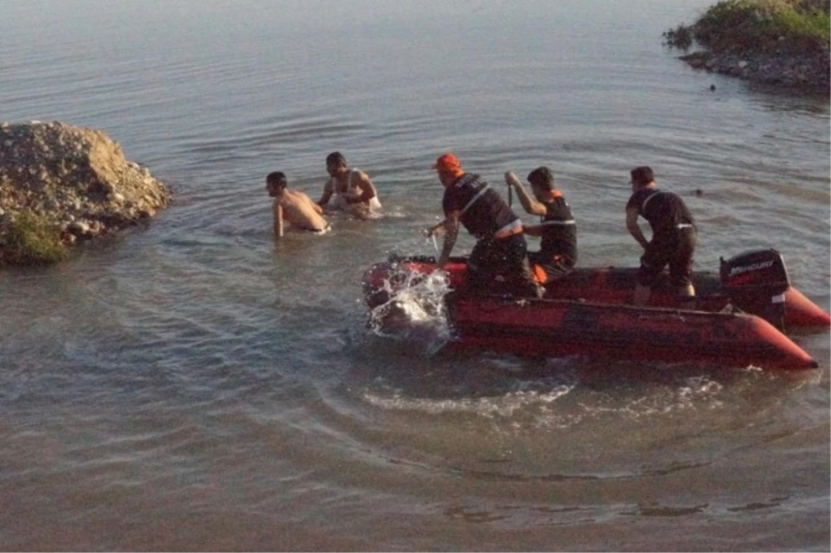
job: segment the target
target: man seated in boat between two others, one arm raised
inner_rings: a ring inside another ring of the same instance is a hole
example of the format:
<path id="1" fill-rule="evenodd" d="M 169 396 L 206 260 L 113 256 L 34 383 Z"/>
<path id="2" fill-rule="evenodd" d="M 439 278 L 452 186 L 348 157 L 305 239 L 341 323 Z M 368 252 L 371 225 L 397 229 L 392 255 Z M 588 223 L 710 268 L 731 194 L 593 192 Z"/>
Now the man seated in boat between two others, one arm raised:
<path id="1" fill-rule="evenodd" d="M 526 235 L 539 236 L 539 251 L 530 252 L 529 260 L 543 284 L 558 279 L 574 269 L 577 263 L 577 225 L 563 193 L 554 185 L 554 175 L 546 166 L 537 167 L 528 175 L 532 198 L 511 171 L 505 182 L 517 192 L 519 203 L 531 215 L 539 215 L 540 224 L 524 226 Z"/>

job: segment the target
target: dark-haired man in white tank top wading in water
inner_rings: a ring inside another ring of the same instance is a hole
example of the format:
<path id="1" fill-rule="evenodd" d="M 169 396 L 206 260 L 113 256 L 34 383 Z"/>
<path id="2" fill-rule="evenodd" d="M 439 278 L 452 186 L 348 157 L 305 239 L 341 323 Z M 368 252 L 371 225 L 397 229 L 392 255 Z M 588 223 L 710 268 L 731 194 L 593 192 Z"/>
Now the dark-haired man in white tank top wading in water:
<path id="1" fill-rule="evenodd" d="M 380 215 L 381 201 L 375 185 L 362 170 L 350 169 L 341 152 L 333 151 L 327 156 L 326 170 L 332 178 L 323 187 L 318 205 L 346 210 L 358 219 L 376 219 Z"/>

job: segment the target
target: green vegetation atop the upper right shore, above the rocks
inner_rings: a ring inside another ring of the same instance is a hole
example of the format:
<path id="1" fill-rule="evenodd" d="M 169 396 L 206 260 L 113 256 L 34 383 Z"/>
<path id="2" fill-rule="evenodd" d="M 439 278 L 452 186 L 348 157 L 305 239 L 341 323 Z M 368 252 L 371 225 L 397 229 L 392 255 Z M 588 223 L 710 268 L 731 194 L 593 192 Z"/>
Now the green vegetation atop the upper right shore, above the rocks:
<path id="1" fill-rule="evenodd" d="M 715 52 L 822 52 L 831 44 L 831 0 L 723 0 L 663 37 L 685 50 L 695 39 Z"/>

